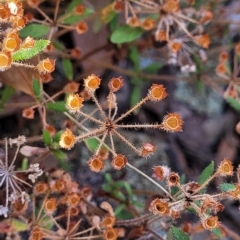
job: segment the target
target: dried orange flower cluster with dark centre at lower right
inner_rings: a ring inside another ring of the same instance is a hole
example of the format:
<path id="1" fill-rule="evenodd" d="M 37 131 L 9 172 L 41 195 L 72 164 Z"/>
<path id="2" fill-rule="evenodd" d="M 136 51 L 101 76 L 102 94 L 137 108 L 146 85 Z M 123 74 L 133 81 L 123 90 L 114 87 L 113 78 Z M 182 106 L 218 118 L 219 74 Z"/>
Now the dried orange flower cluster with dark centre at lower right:
<path id="1" fill-rule="evenodd" d="M 239 168 L 237 169 L 237 173 Z M 154 199 L 149 207 L 149 211 L 154 215 L 169 216 L 172 219 L 180 218 L 181 212 L 192 208 L 200 217 L 204 229 L 213 230 L 221 226 L 217 213 L 223 211 L 224 206 L 220 201 L 224 198 L 239 199 L 239 182 L 231 186 L 230 190 L 221 191 L 216 194 L 203 193 L 207 185 L 216 177 L 233 176 L 233 165 L 228 159 L 224 159 L 214 174 L 208 176 L 204 182 L 180 183 L 177 173 L 171 172 L 167 166 L 155 166 L 152 177 L 166 181 L 168 191 L 166 197 Z M 225 185 L 223 185 L 225 186 Z M 226 185 L 227 186 L 227 185 Z M 173 194 L 172 187 L 177 188 Z M 227 186 L 228 187 L 228 186 Z"/>

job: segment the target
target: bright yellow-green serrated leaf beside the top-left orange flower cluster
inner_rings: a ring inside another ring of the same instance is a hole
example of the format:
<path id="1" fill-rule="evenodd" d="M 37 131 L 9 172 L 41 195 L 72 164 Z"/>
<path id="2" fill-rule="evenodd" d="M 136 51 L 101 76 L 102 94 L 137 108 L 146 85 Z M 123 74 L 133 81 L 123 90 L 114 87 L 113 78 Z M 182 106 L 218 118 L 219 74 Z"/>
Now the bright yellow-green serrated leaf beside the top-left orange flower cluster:
<path id="1" fill-rule="evenodd" d="M 13 61 L 23 61 L 30 59 L 42 52 L 49 43 L 49 40 L 37 40 L 33 48 L 21 48 L 18 51 L 14 52 L 12 55 Z"/>

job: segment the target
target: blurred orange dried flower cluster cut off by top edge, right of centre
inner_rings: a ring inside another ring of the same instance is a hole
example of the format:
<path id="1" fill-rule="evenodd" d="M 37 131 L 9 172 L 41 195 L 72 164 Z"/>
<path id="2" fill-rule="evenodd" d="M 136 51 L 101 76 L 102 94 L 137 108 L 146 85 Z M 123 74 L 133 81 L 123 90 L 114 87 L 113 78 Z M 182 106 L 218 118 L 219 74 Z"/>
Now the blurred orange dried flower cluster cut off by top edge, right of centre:
<path id="1" fill-rule="evenodd" d="M 196 66 L 191 59 L 194 49 L 188 45 L 192 41 L 202 48 L 209 47 L 210 38 L 204 27 L 212 20 L 213 13 L 191 5 L 190 1 L 184 5 L 180 0 L 116 0 L 113 9 L 124 10 L 130 26 L 153 30 L 156 41 L 167 43 L 169 63 L 180 65 L 182 71 L 195 72 Z M 203 50 L 202 55 L 205 55 Z"/>

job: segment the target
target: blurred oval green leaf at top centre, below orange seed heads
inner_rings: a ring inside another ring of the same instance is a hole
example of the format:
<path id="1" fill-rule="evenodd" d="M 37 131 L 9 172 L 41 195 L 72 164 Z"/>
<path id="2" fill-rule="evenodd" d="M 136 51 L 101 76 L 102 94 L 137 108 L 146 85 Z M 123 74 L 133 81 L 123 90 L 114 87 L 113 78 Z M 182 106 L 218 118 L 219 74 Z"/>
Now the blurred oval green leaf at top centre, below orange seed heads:
<path id="1" fill-rule="evenodd" d="M 111 34 L 110 40 L 112 43 L 126 43 L 132 42 L 144 33 L 144 30 L 140 27 L 130 27 L 129 25 L 123 25 L 118 27 Z"/>

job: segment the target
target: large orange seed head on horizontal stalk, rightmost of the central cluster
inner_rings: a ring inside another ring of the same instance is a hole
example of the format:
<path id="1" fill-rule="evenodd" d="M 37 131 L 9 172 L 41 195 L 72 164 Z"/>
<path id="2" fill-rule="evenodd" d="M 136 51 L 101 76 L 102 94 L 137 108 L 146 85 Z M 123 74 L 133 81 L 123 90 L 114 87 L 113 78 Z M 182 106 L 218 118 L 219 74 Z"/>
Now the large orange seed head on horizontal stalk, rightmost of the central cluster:
<path id="1" fill-rule="evenodd" d="M 178 113 L 169 113 L 163 119 L 161 128 L 168 132 L 182 131 L 183 120 Z"/>

